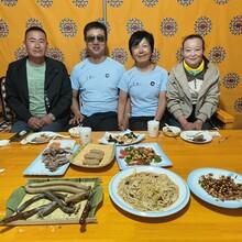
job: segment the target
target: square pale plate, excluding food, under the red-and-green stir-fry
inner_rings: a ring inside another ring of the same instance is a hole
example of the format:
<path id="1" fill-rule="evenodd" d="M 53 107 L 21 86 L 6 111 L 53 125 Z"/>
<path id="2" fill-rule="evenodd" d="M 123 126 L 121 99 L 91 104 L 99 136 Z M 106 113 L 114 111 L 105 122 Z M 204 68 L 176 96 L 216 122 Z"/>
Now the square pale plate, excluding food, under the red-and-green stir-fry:
<path id="1" fill-rule="evenodd" d="M 133 147 L 152 147 L 155 153 L 157 155 L 162 156 L 162 162 L 161 163 L 151 163 L 151 166 L 157 166 L 157 167 L 166 167 L 166 166 L 172 166 L 173 163 L 169 161 L 169 158 L 166 156 L 166 154 L 163 152 L 163 150 L 161 148 L 161 146 L 157 143 L 142 143 L 142 144 L 135 144 L 132 145 Z M 131 168 L 131 167 L 138 167 L 139 165 L 134 165 L 134 166 L 129 166 L 125 162 L 124 158 L 120 158 L 120 150 L 124 150 L 125 146 L 118 146 L 116 148 L 116 158 L 118 161 L 119 164 L 119 168 L 120 169 L 127 169 L 127 168 Z"/>

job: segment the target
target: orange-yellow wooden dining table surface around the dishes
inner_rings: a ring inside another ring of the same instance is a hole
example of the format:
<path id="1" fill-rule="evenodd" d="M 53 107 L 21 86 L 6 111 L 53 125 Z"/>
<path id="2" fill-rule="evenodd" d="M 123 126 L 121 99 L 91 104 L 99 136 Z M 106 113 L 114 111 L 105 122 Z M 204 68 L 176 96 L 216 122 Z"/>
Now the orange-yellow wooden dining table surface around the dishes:
<path id="1" fill-rule="evenodd" d="M 242 130 L 211 130 L 212 140 L 207 143 L 193 143 L 166 136 L 162 131 L 157 138 L 150 138 L 146 131 L 139 144 L 157 143 L 172 162 L 164 169 L 178 175 L 185 183 L 191 172 L 199 168 L 218 168 L 242 174 Z M 106 132 L 92 132 L 91 142 L 98 144 Z M 62 133 L 68 135 L 68 133 Z M 0 133 L 0 140 L 10 139 L 13 133 Z M 79 138 L 72 138 L 80 145 Z M 102 144 L 106 145 L 106 144 Z M 11 194 L 33 178 L 51 176 L 24 175 L 26 167 L 41 154 L 46 144 L 24 144 L 10 142 L 0 147 L 0 219 L 7 211 Z M 23 224 L 0 226 L 0 241 L 242 241 L 242 208 L 223 208 L 200 199 L 193 191 L 188 202 L 177 212 L 161 217 L 133 215 L 121 208 L 110 196 L 112 178 L 121 173 L 117 156 L 103 167 L 88 168 L 70 164 L 58 178 L 100 177 L 103 199 L 96 210 L 97 221 L 88 223 L 85 231 L 79 223 L 74 224 Z"/>

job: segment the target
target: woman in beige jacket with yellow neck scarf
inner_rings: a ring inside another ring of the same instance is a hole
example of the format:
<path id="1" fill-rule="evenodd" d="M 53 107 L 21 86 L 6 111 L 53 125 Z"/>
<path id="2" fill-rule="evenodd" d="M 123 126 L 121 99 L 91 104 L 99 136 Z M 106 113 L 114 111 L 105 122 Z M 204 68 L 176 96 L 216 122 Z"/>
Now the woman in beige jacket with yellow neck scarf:
<path id="1" fill-rule="evenodd" d="M 183 130 L 210 130 L 210 118 L 219 102 L 220 73 L 204 56 L 205 41 L 193 34 L 183 42 L 184 61 L 176 65 L 167 84 L 170 125 Z"/>

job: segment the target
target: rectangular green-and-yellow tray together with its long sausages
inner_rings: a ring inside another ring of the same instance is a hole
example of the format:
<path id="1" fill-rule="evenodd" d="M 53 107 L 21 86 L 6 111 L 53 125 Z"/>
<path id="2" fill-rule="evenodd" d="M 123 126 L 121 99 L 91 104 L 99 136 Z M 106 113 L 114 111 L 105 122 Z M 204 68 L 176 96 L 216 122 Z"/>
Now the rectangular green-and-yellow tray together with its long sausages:
<path id="1" fill-rule="evenodd" d="M 91 205 L 85 223 L 97 222 L 95 213 L 102 198 L 100 178 L 30 179 L 8 199 L 0 224 L 80 223 L 87 201 Z"/>

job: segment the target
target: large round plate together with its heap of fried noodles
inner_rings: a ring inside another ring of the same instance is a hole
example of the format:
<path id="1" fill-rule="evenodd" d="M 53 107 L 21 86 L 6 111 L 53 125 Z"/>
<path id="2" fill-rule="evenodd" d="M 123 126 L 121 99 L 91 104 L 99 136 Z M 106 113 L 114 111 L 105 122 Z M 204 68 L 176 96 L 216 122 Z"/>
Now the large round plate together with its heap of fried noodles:
<path id="1" fill-rule="evenodd" d="M 154 166 L 121 170 L 112 177 L 109 194 L 113 202 L 124 211 L 147 218 L 178 212 L 190 197 L 189 188 L 182 177 Z"/>

